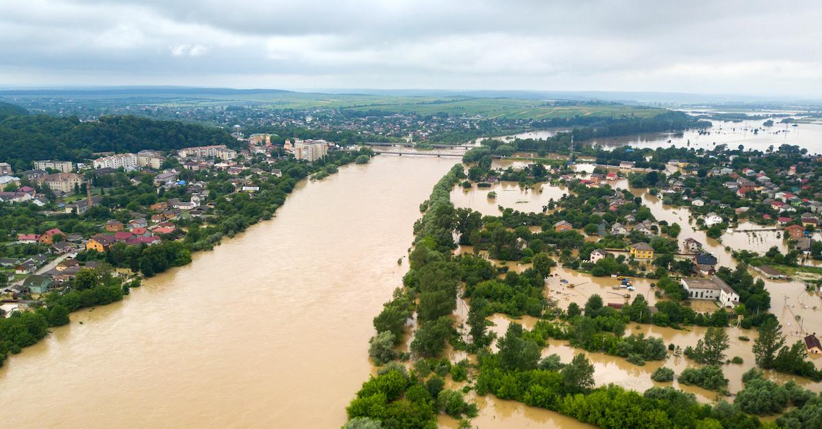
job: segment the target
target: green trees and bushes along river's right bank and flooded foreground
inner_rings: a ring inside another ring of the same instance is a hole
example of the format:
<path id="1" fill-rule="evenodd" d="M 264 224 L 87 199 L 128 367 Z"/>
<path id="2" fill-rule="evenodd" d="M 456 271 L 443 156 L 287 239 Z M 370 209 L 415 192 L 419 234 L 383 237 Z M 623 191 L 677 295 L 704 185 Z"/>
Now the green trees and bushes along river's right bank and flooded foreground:
<path id="1" fill-rule="evenodd" d="M 377 334 L 372 338 L 370 354 L 376 364 L 388 363 L 377 376 L 363 383 L 347 408 L 349 422 L 344 427 L 436 427 L 437 411 L 453 417 L 471 417 L 474 409 L 464 405 L 462 393 L 472 391 L 547 408 L 599 427 L 809 427 L 822 424 L 819 417 L 822 399 L 818 394 L 792 382 L 778 385 L 765 381 L 761 372 L 755 370 L 746 374 L 745 389 L 733 403 L 722 400 L 711 406 L 700 404 L 693 394 L 672 387 L 653 387 L 644 393 L 617 385 L 596 387 L 593 365 L 584 354 L 577 354 L 567 363 L 556 355 L 541 358 L 540 351 L 547 339 L 565 339 L 574 347 L 613 354 L 637 365 L 646 360 L 665 360 L 672 347 L 666 348 L 660 339 L 653 337 L 626 337 L 626 324 L 635 321 L 676 326 L 693 324 L 697 318 L 687 312 L 690 308 L 686 310 L 679 305 L 675 297 L 659 303 L 663 304 L 658 305 L 660 312 L 667 311 L 664 317 L 652 316 L 641 296 L 617 310 L 604 307 L 602 298 L 593 295 L 583 308 L 571 303 L 563 311 L 542 295 L 543 277 L 550 274 L 553 265 L 546 253 L 530 256 L 534 266 L 520 274 L 505 272 L 477 255 L 454 256 L 454 233 L 458 242 L 463 242 L 472 236 L 482 236 L 483 221 L 498 222 L 481 218 L 470 210 L 455 209 L 450 202 L 450 190 L 465 177 L 464 168 L 456 165 L 436 184 L 430 198 L 420 207 L 423 217 L 414 224 L 414 246 L 403 288 L 395 290 L 393 298 L 374 319 Z M 514 213 L 509 212 L 511 214 Z M 499 231 L 500 237 L 510 232 L 502 225 Z M 493 242 L 491 244 L 493 249 Z M 496 251 L 503 249 L 504 246 L 496 247 Z M 725 269 L 720 275 L 734 284 L 734 288 L 738 287 L 737 290 L 750 289 L 747 299 L 759 302 L 761 309 L 767 307 L 767 291 L 763 293 L 761 285 L 749 278 L 743 265 L 735 271 Z M 469 302 L 468 327 L 455 325 L 451 317 L 458 295 Z M 764 333 L 774 330 L 773 316 L 764 311 L 760 311 L 762 316 L 741 311 L 748 325 L 758 325 Z M 486 319 L 495 312 L 529 314 L 541 320 L 532 330 L 511 323 L 504 336 L 495 338 L 487 330 Z M 417 327 L 409 352 L 396 353 L 395 346 L 407 341 L 408 321 L 414 316 Z M 726 362 L 723 352 L 727 349 L 727 334 L 722 327 L 727 326 L 728 315 L 723 311 L 699 320 L 700 325 L 715 327 L 706 332 L 695 348 L 688 348 L 686 356 L 705 366 L 683 371 L 679 381 L 722 391 L 727 385 L 721 369 Z M 755 347 L 757 363 L 775 368 L 775 356 L 780 351 L 783 361 L 791 361 L 791 348 L 783 346 L 778 332 L 769 338 L 762 339 Z M 491 349 L 495 343 L 496 352 Z M 460 364 L 459 371 L 450 371 L 455 364 L 444 358 L 449 348 L 467 351 L 474 358 L 467 365 Z M 806 357 L 802 355 L 799 362 L 807 362 Z M 805 365 L 799 362 L 794 366 Z M 430 374 L 432 366 L 441 368 L 438 374 Z M 785 364 L 783 371 L 791 371 L 789 368 L 792 366 Z M 441 377 L 448 375 L 458 390 L 440 390 Z M 664 367 L 653 376 L 658 381 L 674 378 L 673 371 Z M 429 385 L 435 389 L 427 389 Z M 453 408 L 444 407 L 448 400 L 454 401 Z M 764 423 L 753 415 L 782 413 L 789 404 L 796 408 L 778 417 L 776 422 Z M 469 422 L 464 419 L 461 424 L 469 425 Z"/>

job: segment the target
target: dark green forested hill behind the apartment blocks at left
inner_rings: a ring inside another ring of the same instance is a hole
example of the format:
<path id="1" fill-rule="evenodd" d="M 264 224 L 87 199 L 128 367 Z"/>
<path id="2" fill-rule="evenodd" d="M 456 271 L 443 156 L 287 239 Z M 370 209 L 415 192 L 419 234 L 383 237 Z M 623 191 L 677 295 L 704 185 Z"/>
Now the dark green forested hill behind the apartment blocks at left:
<path id="1" fill-rule="evenodd" d="M 90 159 L 93 152 L 173 150 L 197 145 L 236 146 L 228 131 L 176 121 L 107 116 L 96 122 L 30 115 L 0 103 L 0 162 L 31 168 L 35 159 Z"/>

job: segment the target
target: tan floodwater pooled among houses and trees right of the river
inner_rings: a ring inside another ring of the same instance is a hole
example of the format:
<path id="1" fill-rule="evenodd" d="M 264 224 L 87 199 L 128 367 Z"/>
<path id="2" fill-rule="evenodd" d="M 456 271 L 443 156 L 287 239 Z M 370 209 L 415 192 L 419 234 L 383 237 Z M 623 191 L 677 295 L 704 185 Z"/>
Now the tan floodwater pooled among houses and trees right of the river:
<path id="1" fill-rule="evenodd" d="M 630 189 L 626 180 L 614 182 L 612 186 Z M 566 191 L 565 187 L 554 187 L 547 183 L 543 183 L 541 188 L 545 195 L 556 195 L 557 193 Z M 510 190 L 510 192 L 514 191 L 514 189 Z M 749 249 L 762 252 L 767 251 L 771 246 L 777 246 L 781 250 L 787 248 L 781 235 L 774 232 L 759 231 L 756 233 L 739 233 L 729 231 L 723 235 L 721 242 L 707 238 L 704 231 L 695 229 L 695 219 L 690 219 L 690 211 L 687 207 L 663 205 L 660 199 L 651 196 L 647 190 L 644 189 L 630 189 L 630 191 L 633 192 L 635 196 L 643 198 L 644 204 L 650 207 L 658 220 L 664 219 L 667 220 L 669 224 L 677 222 L 681 225 L 682 231 L 679 235 L 680 242 L 685 238 L 692 237 L 704 243 L 706 250 L 713 252 L 713 254 L 718 257 L 720 265 L 729 267 L 736 266 L 736 261 L 733 260 L 731 252 L 726 250 L 726 246 L 735 249 Z M 479 191 L 477 188 L 466 191 L 455 187 L 455 190 L 451 193 L 451 198 L 457 206 L 468 206 L 475 210 L 480 210 L 483 207 L 483 202 L 479 198 L 480 195 L 477 195 L 480 193 L 482 193 L 482 191 Z M 542 210 L 542 204 L 528 205 L 526 203 L 523 207 L 530 209 L 525 211 Z M 539 208 L 537 209 L 537 207 Z M 523 210 L 520 207 L 516 208 Z M 496 214 L 498 213 L 498 210 L 496 210 Z M 737 229 L 751 228 L 761 227 L 744 222 L 737 226 Z M 471 251 L 473 251 L 473 248 L 469 246 L 459 247 L 458 249 L 458 252 Z M 480 253 L 487 257 L 487 252 L 481 251 Z M 497 266 L 506 265 L 510 267 L 510 270 L 517 272 L 521 272 L 530 266 L 529 264 L 520 264 L 511 261 L 491 261 Z M 755 273 L 752 272 L 752 274 Z M 568 287 L 566 283 L 561 281 L 562 279 L 567 280 L 567 284 L 573 284 L 574 287 Z M 801 340 L 806 334 L 813 332 L 822 333 L 822 298 L 820 298 L 819 295 L 806 292 L 804 283 L 799 280 L 774 281 L 764 279 L 764 282 L 765 287 L 768 288 L 771 293 L 770 311 L 773 312 L 774 315 L 778 317 L 780 323 L 783 324 L 783 333 L 787 336 L 788 344 L 793 344 Z M 620 281 L 616 278 L 593 277 L 590 274 L 557 267 L 552 271 L 552 276 L 547 279 L 545 296 L 556 300 L 557 305 L 563 309 L 567 308 L 570 302 L 576 302 L 580 307 L 584 306 L 584 302 L 586 302 L 593 293 L 598 293 L 603 297 L 605 303 L 623 303 L 625 302 L 626 294 L 629 294 L 629 299 L 633 299 L 637 294 L 641 294 L 651 305 L 657 302 L 657 298 L 653 293 L 654 288 L 651 287 L 653 280 L 634 279 L 633 283 L 635 291 L 629 292 L 625 288 L 614 289 L 614 286 L 620 284 Z M 715 303 L 709 301 L 693 300 L 690 302 L 690 305 L 695 311 L 700 312 L 712 312 L 718 309 Z M 797 316 L 799 316 L 798 320 Z M 534 323 L 536 323 L 536 320 L 529 316 L 513 320 L 507 316 L 494 315 L 489 317 L 489 320 L 493 323 L 489 329 L 497 335 L 505 334 L 508 325 L 512 321 L 520 323 L 526 328 L 531 328 Z M 686 330 L 673 330 L 671 328 L 662 328 L 653 325 L 630 324 L 626 329 L 626 334 L 644 333 L 653 335 L 662 338 L 665 344 L 679 345 L 681 349 L 684 350 L 687 346 L 695 346 L 697 341 L 704 336 L 705 330 L 706 328 L 699 326 L 690 326 L 687 327 Z M 755 360 L 751 346 L 757 337 L 757 332 L 756 330 L 745 330 L 736 326 L 728 328 L 726 332 L 731 339 L 731 348 L 726 352 L 727 358 L 730 359 L 738 356 L 744 361 L 741 365 L 728 364 L 723 367 L 725 377 L 729 380 L 728 390 L 736 393 L 742 388 L 742 374 L 754 366 Z M 739 337 L 741 336 L 748 337 L 749 340 L 740 339 Z M 543 356 L 556 353 L 560 355 L 562 362 L 570 361 L 576 353 L 584 353 L 594 365 L 597 385 L 615 383 L 639 391 L 647 390 L 654 385 L 673 385 L 678 389 L 695 394 L 697 399 L 700 399 L 702 402 L 708 403 L 717 399 L 716 393 L 696 386 L 680 385 L 677 381 L 673 381 L 672 383 L 657 383 L 650 379 L 653 371 L 661 366 L 671 367 L 677 374 L 687 367 L 698 367 L 698 365 L 686 359 L 684 356 L 675 356 L 673 353 L 670 353 L 669 358 L 665 361 L 647 362 L 643 367 L 638 367 L 627 362 L 624 358 L 609 356 L 603 353 L 584 352 L 579 348 L 570 347 L 567 341 L 551 340 L 549 343 L 548 347 L 543 349 Z M 814 362 L 817 367 L 822 367 L 822 358 L 812 358 L 812 362 Z M 774 371 L 766 371 L 765 374 L 774 381 L 786 382 L 788 380 L 794 380 L 809 389 L 815 391 L 822 390 L 822 383 L 811 382 L 801 377 L 787 376 Z"/>

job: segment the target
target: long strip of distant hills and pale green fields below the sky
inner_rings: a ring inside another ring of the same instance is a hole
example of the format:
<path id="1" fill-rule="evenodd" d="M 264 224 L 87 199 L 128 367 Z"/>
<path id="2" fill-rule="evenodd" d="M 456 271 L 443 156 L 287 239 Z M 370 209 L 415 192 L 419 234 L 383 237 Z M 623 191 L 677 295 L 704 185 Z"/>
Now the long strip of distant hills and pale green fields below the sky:
<path id="1" fill-rule="evenodd" d="M 575 116 L 620 117 L 634 115 L 649 118 L 665 112 L 663 108 L 647 108 L 626 104 L 547 105 L 547 100 L 477 98 L 468 96 L 390 96 L 363 94 L 321 94 L 280 90 L 67 90 L 67 91 L 2 91 L 10 99 L 70 98 L 90 104 L 157 105 L 170 108 L 198 106 L 253 105 L 256 108 L 312 109 L 345 108 L 379 110 L 386 113 L 418 113 L 483 118 L 550 119 Z M 13 102 L 13 101 L 12 101 Z"/>

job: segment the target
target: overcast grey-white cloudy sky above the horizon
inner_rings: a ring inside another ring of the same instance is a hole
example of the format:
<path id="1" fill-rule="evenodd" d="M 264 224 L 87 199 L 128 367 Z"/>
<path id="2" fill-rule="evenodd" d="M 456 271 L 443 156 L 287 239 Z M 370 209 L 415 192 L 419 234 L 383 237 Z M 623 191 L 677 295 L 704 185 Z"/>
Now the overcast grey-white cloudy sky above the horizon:
<path id="1" fill-rule="evenodd" d="M 0 86 L 822 96 L 822 1 L 0 0 Z"/>

